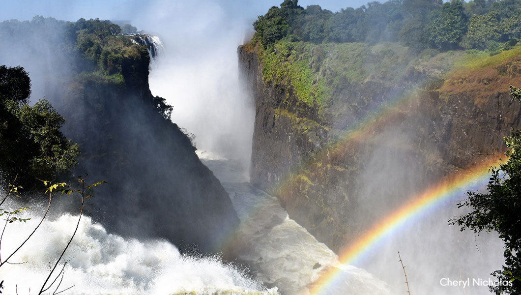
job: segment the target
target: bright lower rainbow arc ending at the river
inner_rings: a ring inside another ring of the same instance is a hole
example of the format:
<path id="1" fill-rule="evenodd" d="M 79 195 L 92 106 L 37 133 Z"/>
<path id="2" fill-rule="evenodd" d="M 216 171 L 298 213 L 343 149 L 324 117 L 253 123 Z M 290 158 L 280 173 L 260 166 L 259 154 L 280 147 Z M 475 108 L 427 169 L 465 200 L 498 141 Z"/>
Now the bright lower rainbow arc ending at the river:
<path id="1" fill-rule="evenodd" d="M 472 187 L 474 183 L 487 180 L 490 167 L 505 163 L 499 156 L 494 156 L 475 165 L 474 167 L 458 171 L 458 173 L 447 177 L 436 185 L 430 186 L 423 192 L 413 196 L 398 210 L 379 220 L 373 227 L 364 233 L 360 238 L 353 241 L 339 255 L 342 264 L 353 264 L 357 260 L 374 249 L 381 240 L 390 236 L 393 232 L 400 229 L 404 224 L 414 217 L 423 215 L 425 211 L 439 206 L 450 199 L 452 196 L 459 195 L 462 191 Z M 313 283 L 309 290 L 311 295 L 326 294 L 327 290 L 338 283 L 342 278 L 343 272 L 338 268 L 332 268 Z"/>

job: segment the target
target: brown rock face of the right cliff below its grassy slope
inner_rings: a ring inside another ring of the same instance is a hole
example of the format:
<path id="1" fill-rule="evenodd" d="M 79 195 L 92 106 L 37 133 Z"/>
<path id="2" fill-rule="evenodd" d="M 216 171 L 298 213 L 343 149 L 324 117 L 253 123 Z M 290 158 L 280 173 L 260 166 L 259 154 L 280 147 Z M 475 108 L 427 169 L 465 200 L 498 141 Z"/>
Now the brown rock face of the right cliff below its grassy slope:
<path id="1" fill-rule="evenodd" d="M 503 81 L 494 91 L 483 82 L 466 91 L 448 87 L 461 81 L 451 66 L 441 71 L 403 59 L 391 65 L 404 69 L 398 80 L 381 72 L 346 79 L 325 103 L 309 104 L 288 80 L 267 79 L 262 50 L 248 44 L 238 54 L 256 101 L 252 182 L 277 195 L 291 218 L 335 251 L 368 226 L 359 220 L 378 220 L 440 177 L 503 151 L 503 136 L 521 128 L 519 103 L 505 84 L 521 79 L 501 71 L 510 59 L 487 66 L 493 72 L 476 70 Z M 283 58 L 294 64 L 301 57 Z M 331 58 L 309 63 L 318 79 L 334 66 Z"/>

